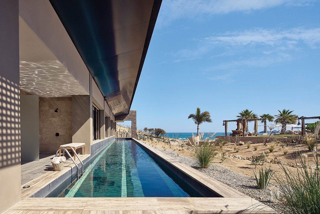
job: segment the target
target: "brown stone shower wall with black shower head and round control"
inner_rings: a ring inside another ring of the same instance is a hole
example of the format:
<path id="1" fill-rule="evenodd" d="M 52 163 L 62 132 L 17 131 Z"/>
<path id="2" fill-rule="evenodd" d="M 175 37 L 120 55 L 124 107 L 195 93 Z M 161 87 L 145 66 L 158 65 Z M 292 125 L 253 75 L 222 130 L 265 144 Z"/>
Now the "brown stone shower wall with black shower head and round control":
<path id="1" fill-rule="evenodd" d="M 71 97 L 40 97 L 38 105 L 40 152 L 56 152 L 60 145 L 72 142 Z"/>

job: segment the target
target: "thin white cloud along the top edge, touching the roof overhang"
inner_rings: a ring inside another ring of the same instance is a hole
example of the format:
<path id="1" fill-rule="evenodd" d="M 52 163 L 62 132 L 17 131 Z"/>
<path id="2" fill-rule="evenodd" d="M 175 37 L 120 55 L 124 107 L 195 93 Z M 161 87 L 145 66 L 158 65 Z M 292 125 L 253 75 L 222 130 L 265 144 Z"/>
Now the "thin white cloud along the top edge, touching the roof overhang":
<path id="1" fill-rule="evenodd" d="M 312 0 L 163 0 L 157 25 L 168 25 L 181 17 L 225 14 L 234 11 L 251 11 L 286 4 L 308 5 Z"/>

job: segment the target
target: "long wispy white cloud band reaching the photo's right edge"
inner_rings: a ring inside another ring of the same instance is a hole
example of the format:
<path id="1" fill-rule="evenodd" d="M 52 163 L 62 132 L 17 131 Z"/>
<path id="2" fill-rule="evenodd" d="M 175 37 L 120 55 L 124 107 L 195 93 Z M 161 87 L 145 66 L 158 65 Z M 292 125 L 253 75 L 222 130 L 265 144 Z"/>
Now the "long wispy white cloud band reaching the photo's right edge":
<path id="1" fill-rule="evenodd" d="M 286 45 L 289 48 L 293 48 L 294 45 L 303 42 L 311 48 L 317 48 L 317 45 L 320 44 L 320 28 L 293 28 L 289 30 L 254 28 L 251 30 L 226 32 L 221 36 L 204 38 L 204 41 L 214 45 L 220 44 L 226 46 Z"/>

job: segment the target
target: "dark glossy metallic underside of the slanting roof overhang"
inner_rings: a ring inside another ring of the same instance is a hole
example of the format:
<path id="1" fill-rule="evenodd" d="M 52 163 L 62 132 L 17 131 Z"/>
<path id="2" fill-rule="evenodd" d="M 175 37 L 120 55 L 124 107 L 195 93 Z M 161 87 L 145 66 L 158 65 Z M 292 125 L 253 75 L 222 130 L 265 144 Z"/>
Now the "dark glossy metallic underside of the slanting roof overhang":
<path id="1" fill-rule="evenodd" d="M 49 0 L 115 114 L 129 113 L 162 0 Z"/>

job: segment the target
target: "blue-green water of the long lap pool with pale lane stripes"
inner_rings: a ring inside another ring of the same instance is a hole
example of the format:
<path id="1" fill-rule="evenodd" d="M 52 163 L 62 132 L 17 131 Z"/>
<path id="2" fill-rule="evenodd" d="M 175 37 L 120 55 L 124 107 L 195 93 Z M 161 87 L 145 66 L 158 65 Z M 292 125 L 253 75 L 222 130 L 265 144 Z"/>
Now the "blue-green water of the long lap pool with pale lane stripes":
<path id="1" fill-rule="evenodd" d="M 61 196 L 202 197 L 131 140 L 108 145 Z"/>

